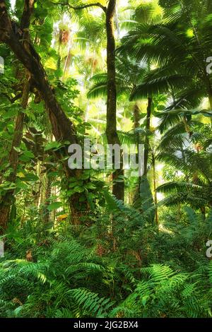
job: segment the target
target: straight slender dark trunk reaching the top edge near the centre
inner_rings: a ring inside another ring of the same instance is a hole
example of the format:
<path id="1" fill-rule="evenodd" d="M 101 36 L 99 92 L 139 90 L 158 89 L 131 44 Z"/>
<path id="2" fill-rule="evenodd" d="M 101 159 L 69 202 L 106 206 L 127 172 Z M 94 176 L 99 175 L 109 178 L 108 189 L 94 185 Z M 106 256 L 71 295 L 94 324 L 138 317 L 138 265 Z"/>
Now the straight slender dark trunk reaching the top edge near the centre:
<path id="1" fill-rule="evenodd" d="M 114 15 L 116 0 L 110 0 L 106 11 L 106 30 L 107 30 L 107 143 L 118 144 L 117 134 L 117 87 L 115 69 L 115 39 L 114 39 Z M 124 181 L 116 182 L 120 175 L 124 175 L 123 156 L 120 156 L 121 165 L 119 170 L 114 170 L 112 174 L 113 185 L 112 194 L 124 201 Z M 114 161 L 113 161 L 114 167 Z"/>

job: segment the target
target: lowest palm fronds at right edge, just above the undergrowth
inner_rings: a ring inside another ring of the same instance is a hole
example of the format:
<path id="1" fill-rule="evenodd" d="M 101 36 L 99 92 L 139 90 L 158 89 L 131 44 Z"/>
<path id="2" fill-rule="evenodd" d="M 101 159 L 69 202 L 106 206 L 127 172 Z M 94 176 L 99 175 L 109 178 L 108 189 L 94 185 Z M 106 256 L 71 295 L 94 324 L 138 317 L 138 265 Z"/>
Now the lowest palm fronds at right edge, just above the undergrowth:
<path id="1" fill-rule="evenodd" d="M 177 153 L 175 150 L 161 153 L 158 159 L 186 174 L 182 181 L 172 181 L 158 187 L 158 192 L 170 194 L 160 203 L 166 206 L 188 203 L 203 212 L 205 207 L 212 206 L 211 153 L 206 151 L 196 153 L 190 149 Z"/>

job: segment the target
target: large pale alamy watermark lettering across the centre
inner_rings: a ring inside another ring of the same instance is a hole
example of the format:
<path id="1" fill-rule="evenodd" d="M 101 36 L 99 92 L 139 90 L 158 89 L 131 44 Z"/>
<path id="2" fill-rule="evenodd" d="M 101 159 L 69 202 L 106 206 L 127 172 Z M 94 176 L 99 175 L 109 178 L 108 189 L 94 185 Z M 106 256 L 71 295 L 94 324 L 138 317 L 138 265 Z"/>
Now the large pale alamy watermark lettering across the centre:
<path id="1" fill-rule="evenodd" d="M 131 177 L 143 175 L 143 144 L 91 144 L 90 139 L 84 140 L 83 147 L 71 144 L 68 152 L 71 157 L 68 165 L 71 170 L 129 170 Z"/>

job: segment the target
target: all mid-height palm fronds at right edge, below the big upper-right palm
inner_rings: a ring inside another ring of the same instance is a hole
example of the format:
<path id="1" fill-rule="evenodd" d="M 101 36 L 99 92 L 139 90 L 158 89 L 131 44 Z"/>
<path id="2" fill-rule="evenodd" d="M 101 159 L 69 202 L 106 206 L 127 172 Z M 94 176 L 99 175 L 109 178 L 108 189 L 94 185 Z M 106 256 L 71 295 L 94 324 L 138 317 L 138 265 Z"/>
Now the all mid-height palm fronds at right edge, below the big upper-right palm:
<path id="1" fill-rule="evenodd" d="M 204 212 L 206 206 L 211 206 L 212 189 L 211 124 L 209 121 L 208 125 L 204 123 L 212 114 L 201 110 L 194 112 L 181 109 L 175 112 L 177 123 L 172 124 L 163 134 L 154 158 L 170 165 L 180 174 L 177 179 L 159 186 L 157 191 L 170 194 L 161 201 L 162 204 L 172 206 L 189 203 Z M 162 118 L 166 113 L 161 112 Z M 192 119 L 191 113 L 196 119 Z M 187 126 L 184 125 L 184 117 L 189 118 Z"/>

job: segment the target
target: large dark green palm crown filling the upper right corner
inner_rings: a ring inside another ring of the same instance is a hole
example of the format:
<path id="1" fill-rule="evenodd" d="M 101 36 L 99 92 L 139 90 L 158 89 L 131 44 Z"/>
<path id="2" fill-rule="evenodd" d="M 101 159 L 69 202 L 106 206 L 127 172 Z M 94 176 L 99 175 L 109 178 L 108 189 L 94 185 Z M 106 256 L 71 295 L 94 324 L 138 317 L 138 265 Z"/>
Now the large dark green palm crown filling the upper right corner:
<path id="1" fill-rule="evenodd" d="M 146 75 L 133 97 L 168 93 L 172 109 L 199 105 L 208 97 L 212 109 L 211 77 L 206 58 L 212 49 L 211 1 L 160 1 L 164 17 L 160 24 L 139 24 L 122 40 L 119 52 L 156 66 Z"/>

